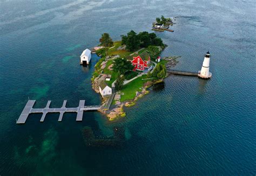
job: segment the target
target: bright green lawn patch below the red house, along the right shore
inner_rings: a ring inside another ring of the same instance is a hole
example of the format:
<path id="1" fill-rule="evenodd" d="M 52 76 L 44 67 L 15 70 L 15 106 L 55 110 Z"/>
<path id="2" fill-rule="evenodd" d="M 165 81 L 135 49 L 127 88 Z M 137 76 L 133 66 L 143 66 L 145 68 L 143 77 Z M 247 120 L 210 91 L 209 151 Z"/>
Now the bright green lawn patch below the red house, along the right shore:
<path id="1" fill-rule="evenodd" d="M 125 85 L 124 88 L 121 90 L 124 95 L 121 95 L 120 101 L 123 102 L 126 100 L 132 100 L 136 96 L 136 91 L 142 91 L 142 89 L 140 88 L 142 88 L 143 84 L 148 81 L 142 79 L 145 79 L 146 77 L 146 75 L 140 76 L 139 78 Z"/>

